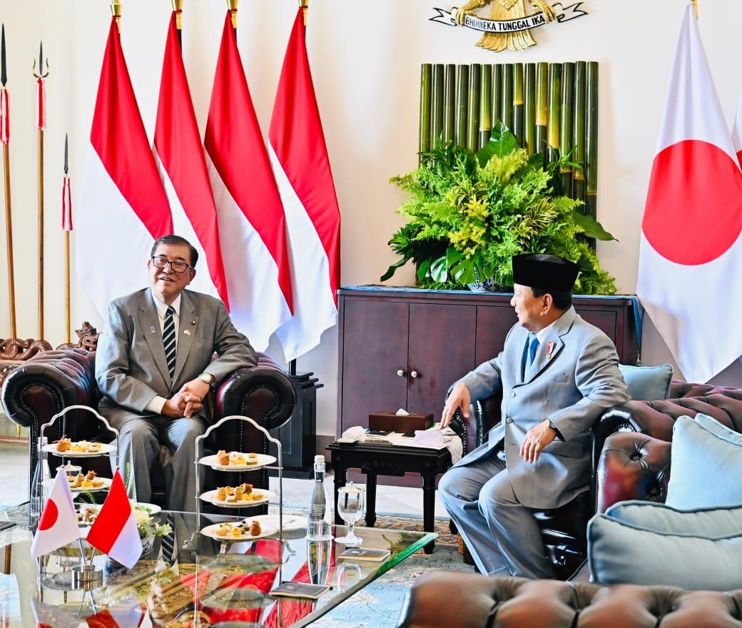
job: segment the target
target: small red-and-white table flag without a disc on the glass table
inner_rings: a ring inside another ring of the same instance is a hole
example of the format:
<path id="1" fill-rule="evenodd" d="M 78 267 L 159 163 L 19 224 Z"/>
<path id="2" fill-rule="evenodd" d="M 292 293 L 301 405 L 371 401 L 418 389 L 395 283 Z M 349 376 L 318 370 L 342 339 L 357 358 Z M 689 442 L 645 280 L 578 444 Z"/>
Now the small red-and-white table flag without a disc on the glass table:
<path id="1" fill-rule="evenodd" d="M 111 491 L 88 532 L 88 543 L 131 569 L 142 555 L 137 522 L 126 495 L 124 481 L 116 470 Z"/>

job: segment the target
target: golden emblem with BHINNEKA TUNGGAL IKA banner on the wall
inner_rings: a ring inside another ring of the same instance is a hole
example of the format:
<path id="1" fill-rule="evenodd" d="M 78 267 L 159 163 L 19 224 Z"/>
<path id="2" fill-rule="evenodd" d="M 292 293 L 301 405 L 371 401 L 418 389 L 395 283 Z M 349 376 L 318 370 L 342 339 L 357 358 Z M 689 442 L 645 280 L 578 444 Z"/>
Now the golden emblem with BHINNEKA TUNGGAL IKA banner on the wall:
<path id="1" fill-rule="evenodd" d="M 489 18 L 476 13 L 477 9 L 492 4 Z M 582 2 L 563 7 L 556 2 L 552 6 L 546 0 L 529 0 L 528 4 L 536 9 L 526 13 L 526 0 L 469 0 L 464 6 L 453 7 L 450 11 L 435 10 L 438 14 L 430 20 L 449 26 L 464 26 L 482 31 L 482 38 L 476 45 L 487 50 L 525 50 L 536 45 L 531 29 L 549 22 L 568 22 L 587 12 L 580 9 Z"/>

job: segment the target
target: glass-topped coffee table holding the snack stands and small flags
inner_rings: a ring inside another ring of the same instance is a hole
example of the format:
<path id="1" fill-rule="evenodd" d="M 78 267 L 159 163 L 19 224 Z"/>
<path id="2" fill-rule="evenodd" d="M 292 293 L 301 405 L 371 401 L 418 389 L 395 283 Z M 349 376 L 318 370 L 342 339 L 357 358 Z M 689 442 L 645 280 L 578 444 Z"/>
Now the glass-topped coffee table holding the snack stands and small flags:
<path id="1" fill-rule="evenodd" d="M 145 552 L 133 569 L 95 555 L 93 564 L 102 570 L 102 580 L 76 589 L 71 572 L 81 560 L 78 544 L 37 563 L 30 557 L 33 533 L 26 506 L 0 511 L 0 521 L 17 524 L 0 531 L 0 565 L 9 568 L 0 574 L 0 625 L 298 628 L 436 538 L 430 532 L 356 527 L 362 548 L 388 549 L 390 555 L 379 562 L 342 560 L 341 543 L 308 541 L 303 528 L 286 531 L 291 514 L 284 513 L 283 546 L 278 533 L 226 543 L 198 532 L 240 517 L 202 514 L 198 522 L 194 513 L 172 511 L 153 517 L 157 523 L 169 523 L 172 531 L 143 540 Z M 345 526 L 333 527 L 337 537 L 345 532 Z M 85 550 L 90 551 L 89 546 Z M 317 600 L 272 596 L 272 589 L 285 582 L 325 584 L 330 589 Z"/>

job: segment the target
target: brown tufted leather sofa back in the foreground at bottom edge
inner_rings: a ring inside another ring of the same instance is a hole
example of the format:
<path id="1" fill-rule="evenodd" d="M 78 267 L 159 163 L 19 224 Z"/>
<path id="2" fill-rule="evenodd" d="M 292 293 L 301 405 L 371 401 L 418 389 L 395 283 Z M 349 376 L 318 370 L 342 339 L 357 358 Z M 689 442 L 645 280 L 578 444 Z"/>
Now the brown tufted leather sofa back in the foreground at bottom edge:
<path id="1" fill-rule="evenodd" d="M 428 572 L 402 608 L 399 628 L 742 628 L 742 589 L 486 578 Z"/>

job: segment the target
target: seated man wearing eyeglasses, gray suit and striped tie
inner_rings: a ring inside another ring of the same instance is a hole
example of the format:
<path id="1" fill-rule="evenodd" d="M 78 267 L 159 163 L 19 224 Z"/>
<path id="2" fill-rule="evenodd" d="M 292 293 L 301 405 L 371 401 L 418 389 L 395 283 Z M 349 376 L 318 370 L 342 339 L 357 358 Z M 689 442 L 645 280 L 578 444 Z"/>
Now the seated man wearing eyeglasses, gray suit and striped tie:
<path id="1" fill-rule="evenodd" d="M 130 497 L 151 501 L 159 457 L 174 511 L 195 509 L 194 444 L 209 425 L 206 396 L 232 371 L 257 364 L 222 301 L 185 290 L 197 258 L 180 236 L 155 241 L 150 287 L 111 301 L 96 350 L 99 412 L 119 430 L 120 465 L 134 472 Z"/>

